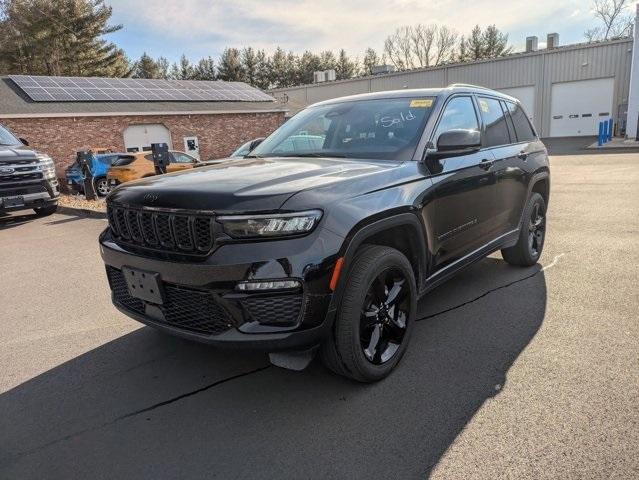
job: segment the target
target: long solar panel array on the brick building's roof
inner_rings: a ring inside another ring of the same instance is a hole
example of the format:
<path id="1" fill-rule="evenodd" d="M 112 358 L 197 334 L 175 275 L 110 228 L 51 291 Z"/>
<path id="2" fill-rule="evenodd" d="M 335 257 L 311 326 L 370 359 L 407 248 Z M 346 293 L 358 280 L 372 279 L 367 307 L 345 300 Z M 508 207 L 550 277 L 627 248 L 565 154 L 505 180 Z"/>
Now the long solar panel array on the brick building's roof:
<path id="1" fill-rule="evenodd" d="M 243 82 L 9 75 L 34 102 L 272 102 Z"/>

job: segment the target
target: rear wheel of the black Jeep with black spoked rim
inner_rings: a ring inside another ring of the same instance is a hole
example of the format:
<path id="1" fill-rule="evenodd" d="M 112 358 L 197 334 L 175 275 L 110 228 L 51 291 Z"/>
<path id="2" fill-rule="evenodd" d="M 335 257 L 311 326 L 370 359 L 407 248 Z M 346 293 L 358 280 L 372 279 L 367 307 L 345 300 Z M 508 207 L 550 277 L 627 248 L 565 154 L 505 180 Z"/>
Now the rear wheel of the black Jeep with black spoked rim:
<path id="1" fill-rule="evenodd" d="M 534 217 L 534 218 L 533 218 Z M 518 267 L 530 267 L 537 263 L 546 240 L 546 202 L 533 193 L 526 203 L 523 222 L 517 243 L 501 251 L 506 262 Z"/>

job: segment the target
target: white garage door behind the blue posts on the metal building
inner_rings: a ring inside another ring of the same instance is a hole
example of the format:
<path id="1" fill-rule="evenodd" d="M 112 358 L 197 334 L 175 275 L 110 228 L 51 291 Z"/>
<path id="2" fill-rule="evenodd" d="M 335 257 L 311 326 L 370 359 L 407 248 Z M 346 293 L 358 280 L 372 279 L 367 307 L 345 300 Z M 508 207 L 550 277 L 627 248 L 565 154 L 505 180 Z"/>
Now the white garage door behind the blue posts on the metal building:
<path id="1" fill-rule="evenodd" d="M 612 115 L 614 78 L 555 83 L 550 101 L 550 136 L 597 135 Z"/>

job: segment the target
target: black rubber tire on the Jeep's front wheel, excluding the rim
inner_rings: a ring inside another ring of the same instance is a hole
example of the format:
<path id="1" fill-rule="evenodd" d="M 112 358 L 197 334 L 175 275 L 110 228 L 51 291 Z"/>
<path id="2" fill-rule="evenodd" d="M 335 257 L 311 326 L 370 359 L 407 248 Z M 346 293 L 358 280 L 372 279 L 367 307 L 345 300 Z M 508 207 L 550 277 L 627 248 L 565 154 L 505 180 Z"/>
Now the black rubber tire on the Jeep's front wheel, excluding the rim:
<path id="1" fill-rule="evenodd" d="M 353 373 L 356 373 L 359 377 L 363 377 L 366 381 L 375 381 L 386 377 L 397 363 L 399 363 L 408 348 L 412 331 L 415 326 L 415 317 L 417 312 L 417 286 L 415 284 L 415 277 L 410 263 L 406 257 L 397 250 L 391 250 L 389 253 L 375 259 L 375 261 L 370 264 L 369 268 L 367 268 L 364 272 L 363 281 L 358 286 L 354 287 L 351 282 L 351 275 L 359 273 L 356 272 L 356 269 L 358 268 L 357 263 L 358 262 L 356 261 L 353 269 L 349 273 L 349 279 L 344 290 L 344 295 L 342 296 L 342 302 L 337 318 L 337 328 L 348 328 L 351 333 L 346 336 L 350 341 L 350 345 L 340 345 L 339 347 L 340 350 L 348 349 L 352 352 L 353 355 L 351 358 L 353 358 L 355 363 L 354 367 L 357 370 L 357 372 Z M 375 365 L 366 358 L 360 345 L 361 309 L 364 304 L 366 293 L 368 292 L 373 280 L 379 273 L 388 268 L 398 268 L 404 273 L 408 280 L 411 300 L 406 332 L 404 333 L 402 344 L 391 360 L 382 365 Z M 337 337 L 343 338 L 340 335 L 337 335 Z"/>

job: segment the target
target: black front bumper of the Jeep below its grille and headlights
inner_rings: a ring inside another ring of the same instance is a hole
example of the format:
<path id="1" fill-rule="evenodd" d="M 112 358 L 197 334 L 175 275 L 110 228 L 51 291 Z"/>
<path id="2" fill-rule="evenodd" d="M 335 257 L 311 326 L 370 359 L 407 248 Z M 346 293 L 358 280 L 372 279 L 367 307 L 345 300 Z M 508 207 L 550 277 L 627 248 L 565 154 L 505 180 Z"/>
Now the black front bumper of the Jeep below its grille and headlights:
<path id="1" fill-rule="evenodd" d="M 330 333 L 335 311 L 328 284 L 335 254 L 326 248 L 337 252 L 341 239 L 330 232 L 322 237 L 314 232 L 285 241 L 229 244 L 204 261 L 179 262 L 125 250 L 107 229 L 100 251 L 113 303 L 129 317 L 202 343 L 280 351 L 308 348 Z M 319 261 L 309 257 L 313 249 L 321 252 Z M 288 256 L 282 258 L 278 253 L 284 251 Z M 158 273 L 163 303 L 131 295 L 123 267 Z M 235 288 L 247 280 L 272 279 L 296 279 L 302 287 L 252 293 Z"/>

